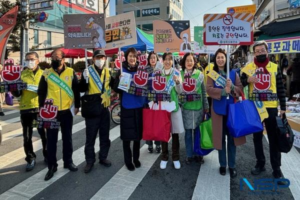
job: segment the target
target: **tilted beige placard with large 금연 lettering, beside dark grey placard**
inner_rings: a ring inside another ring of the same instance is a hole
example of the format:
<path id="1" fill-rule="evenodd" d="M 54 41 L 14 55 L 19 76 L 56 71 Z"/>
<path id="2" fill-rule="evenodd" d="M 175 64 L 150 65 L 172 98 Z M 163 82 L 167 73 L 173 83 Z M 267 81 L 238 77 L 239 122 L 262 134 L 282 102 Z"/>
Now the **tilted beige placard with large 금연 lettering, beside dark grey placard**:
<path id="1" fill-rule="evenodd" d="M 134 11 L 105 18 L 106 48 L 119 48 L 137 43 Z"/>

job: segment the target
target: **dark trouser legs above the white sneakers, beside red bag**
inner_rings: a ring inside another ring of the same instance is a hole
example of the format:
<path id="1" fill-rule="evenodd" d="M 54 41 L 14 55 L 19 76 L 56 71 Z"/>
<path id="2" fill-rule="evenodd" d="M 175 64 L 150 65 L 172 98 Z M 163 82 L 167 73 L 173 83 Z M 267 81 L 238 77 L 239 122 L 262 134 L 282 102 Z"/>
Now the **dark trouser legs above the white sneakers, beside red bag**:
<path id="1" fill-rule="evenodd" d="M 172 160 L 179 160 L 179 135 L 178 133 L 171 134 L 172 135 Z M 168 160 L 168 143 L 162 141 L 161 142 L 161 160 Z"/>

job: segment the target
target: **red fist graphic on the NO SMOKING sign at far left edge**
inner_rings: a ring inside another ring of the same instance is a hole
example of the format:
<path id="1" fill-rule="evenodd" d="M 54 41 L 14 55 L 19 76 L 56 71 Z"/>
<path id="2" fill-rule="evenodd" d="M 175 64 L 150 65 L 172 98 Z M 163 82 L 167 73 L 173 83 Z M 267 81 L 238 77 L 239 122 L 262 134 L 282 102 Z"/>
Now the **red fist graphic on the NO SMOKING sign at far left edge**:
<path id="1" fill-rule="evenodd" d="M 1 77 L 5 81 L 18 80 L 21 77 L 21 67 L 14 65 L 13 59 L 6 59 L 1 70 Z"/>

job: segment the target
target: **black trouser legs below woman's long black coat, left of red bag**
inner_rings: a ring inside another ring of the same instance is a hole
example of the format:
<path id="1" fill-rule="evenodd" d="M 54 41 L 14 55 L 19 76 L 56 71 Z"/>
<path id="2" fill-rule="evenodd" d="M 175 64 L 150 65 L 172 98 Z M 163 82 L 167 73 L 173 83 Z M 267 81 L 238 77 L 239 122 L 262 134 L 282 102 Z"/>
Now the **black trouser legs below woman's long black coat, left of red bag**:
<path id="1" fill-rule="evenodd" d="M 133 154 L 133 161 L 138 160 L 139 146 L 140 146 L 140 140 L 133 140 L 133 148 L 132 148 L 133 153 L 132 153 L 130 148 L 130 140 L 123 140 L 123 152 L 124 152 L 125 164 L 132 163 L 132 154 Z"/>

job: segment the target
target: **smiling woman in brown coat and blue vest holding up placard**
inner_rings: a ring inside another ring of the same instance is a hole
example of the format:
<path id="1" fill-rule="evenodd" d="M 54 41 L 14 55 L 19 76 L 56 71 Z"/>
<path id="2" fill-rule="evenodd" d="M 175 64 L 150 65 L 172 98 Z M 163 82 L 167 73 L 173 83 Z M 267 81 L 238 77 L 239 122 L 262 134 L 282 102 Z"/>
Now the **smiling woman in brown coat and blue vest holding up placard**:
<path id="1" fill-rule="evenodd" d="M 235 70 L 232 70 L 230 68 L 229 77 L 226 78 L 226 51 L 222 48 L 219 48 L 215 52 L 214 57 L 214 66 L 212 70 L 207 74 L 208 77 L 206 82 L 207 94 L 212 98 L 212 141 L 214 148 L 218 150 L 220 174 L 226 174 L 228 157 L 230 177 L 235 177 L 236 146 L 245 143 L 245 137 L 242 136 L 233 138 L 229 134 L 226 122 L 228 115 L 228 104 L 234 103 L 234 98 L 241 95 L 243 87 Z M 228 94 L 229 99 L 227 99 Z M 220 126 L 220 124 L 222 125 Z M 226 135 L 227 152 L 225 138 Z"/>

